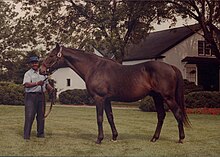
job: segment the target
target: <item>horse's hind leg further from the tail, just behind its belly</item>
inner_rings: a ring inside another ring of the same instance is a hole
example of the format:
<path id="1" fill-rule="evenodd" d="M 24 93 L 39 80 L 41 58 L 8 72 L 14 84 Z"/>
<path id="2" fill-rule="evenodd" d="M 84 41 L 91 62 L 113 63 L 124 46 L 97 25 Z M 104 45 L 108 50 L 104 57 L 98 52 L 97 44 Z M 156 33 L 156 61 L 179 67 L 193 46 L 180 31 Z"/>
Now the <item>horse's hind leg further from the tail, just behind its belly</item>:
<path id="1" fill-rule="evenodd" d="M 156 127 L 156 130 L 155 130 L 154 136 L 151 139 L 151 142 L 156 142 L 160 137 L 160 132 L 161 132 L 161 129 L 162 129 L 162 126 L 163 126 L 163 121 L 164 121 L 164 118 L 166 116 L 166 112 L 164 110 L 163 98 L 161 97 L 161 95 L 160 94 L 154 94 L 153 99 L 154 99 L 155 107 L 156 107 L 156 110 L 157 110 L 158 122 L 157 122 L 157 127 Z"/>

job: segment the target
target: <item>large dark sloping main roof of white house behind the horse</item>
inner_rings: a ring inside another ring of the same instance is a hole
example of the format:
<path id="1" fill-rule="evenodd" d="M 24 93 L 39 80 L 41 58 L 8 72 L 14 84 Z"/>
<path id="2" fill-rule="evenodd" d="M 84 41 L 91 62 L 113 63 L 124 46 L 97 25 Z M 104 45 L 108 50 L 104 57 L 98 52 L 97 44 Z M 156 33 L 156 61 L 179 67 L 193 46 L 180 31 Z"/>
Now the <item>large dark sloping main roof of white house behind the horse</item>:
<path id="1" fill-rule="evenodd" d="M 139 44 L 126 49 L 124 61 L 160 58 L 163 53 L 200 30 L 199 24 L 150 33 Z"/>

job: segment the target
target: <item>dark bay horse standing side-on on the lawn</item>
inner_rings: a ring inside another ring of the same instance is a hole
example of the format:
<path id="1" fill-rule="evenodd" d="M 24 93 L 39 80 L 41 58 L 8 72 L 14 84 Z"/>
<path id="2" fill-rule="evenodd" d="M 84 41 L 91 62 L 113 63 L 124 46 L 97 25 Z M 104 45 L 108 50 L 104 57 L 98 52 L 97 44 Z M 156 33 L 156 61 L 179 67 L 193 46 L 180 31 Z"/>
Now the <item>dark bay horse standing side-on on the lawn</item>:
<path id="1" fill-rule="evenodd" d="M 163 103 L 173 112 L 178 123 L 179 143 L 185 138 L 183 124 L 190 126 L 183 96 L 183 78 L 174 66 L 163 62 L 149 61 L 136 65 L 121 65 L 113 60 L 85 53 L 82 50 L 56 45 L 44 59 L 40 72 L 46 74 L 60 67 L 70 67 L 86 83 L 89 94 L 96 104 L 98 138 L 103 134 L 103 112 L 105 111 L 112 130 L 112 139 L 118 136 L 113 118 L 111 101 L 132 102 L 147 95 L 153 97 L 157 109 L 157 127 L 151 139 L 159 139 L 165 118 Z"/>

